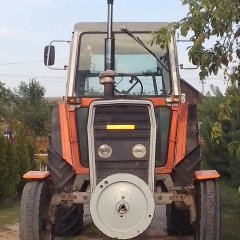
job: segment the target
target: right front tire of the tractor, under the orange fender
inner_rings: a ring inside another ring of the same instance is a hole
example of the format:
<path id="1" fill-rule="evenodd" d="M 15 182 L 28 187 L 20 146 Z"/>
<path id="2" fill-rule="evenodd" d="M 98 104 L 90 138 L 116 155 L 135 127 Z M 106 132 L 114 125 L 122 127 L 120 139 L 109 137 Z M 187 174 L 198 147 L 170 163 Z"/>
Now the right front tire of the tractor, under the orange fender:
<path id="1" fill-rule="evenodd" d="M 195 240 L 219 240 L 220 196 L 216 180 L 199 182 L 197 187 Z"/>

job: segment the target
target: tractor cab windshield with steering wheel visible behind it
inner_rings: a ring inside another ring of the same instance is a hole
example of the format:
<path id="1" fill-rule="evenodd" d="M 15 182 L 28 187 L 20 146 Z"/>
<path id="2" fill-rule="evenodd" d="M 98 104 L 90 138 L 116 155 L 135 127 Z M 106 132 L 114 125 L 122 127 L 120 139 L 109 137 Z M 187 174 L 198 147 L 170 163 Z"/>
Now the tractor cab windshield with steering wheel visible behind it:
<path id="1" fill-rule="evenodd" d="M 119 96 L 159 96 L 170 94 L 168 51 L 151 46 L 151 33 L 134 33 L 158 60 L 127 34 L 115 38 L 114 94 Z M 76 74 L 75 91 L 79 96 L 103 96 L 99 74 L 104 71 L 105 33 L 83 33 Z"/>

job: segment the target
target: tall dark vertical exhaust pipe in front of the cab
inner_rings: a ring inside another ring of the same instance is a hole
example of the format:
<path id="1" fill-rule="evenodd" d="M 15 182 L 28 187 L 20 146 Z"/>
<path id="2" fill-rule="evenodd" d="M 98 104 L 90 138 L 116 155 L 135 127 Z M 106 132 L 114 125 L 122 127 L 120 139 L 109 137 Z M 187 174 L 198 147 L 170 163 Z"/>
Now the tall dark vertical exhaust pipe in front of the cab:
<path id="1" fill-rule="evenodd" d="M 113 24 L 113 0 L 108 2 L 108 22 L 107 22 L 107 38 L 105 38 L 105 67 L 104 72 L 99 75 L 99 82 L 104 85 L 104 98 L 114 97 L 114 55 L 115 55 L 115 39 L 112 32 Z"/>

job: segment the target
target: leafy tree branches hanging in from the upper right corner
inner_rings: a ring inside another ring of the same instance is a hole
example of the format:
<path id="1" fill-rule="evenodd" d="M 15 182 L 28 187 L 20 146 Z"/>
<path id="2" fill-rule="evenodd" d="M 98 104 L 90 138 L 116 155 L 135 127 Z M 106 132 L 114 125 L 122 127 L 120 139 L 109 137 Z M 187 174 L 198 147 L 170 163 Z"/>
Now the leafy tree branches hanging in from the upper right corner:
<path id="1" fill-rule="evenodd" d="M 224 70 L 225 79 L 235 83 L 240 79 L 240 1 L 238 0 L 181 0 L 188 5 L 189 11 L 179 22 L 155 31 L 152 44 L 166 47 L 171 35 L 179 30 L 184 37 L 193 42 L 188 48 L 189 59 L 199 66 L 201 80 L 211 74 Z M 231 69 L 230 69 L 231 68 Z M 239 86 L 239 82 L 238 82 Z M 216 142 L 222 138 L 221 119 L 229 118 L 234 105 L 232 92 L 227 93 L 227 100 L 221 105 L 219 116 L 211 130 L 211 137 Z M 240 148 L 240 142 L 235 146 Z M 231 146 L 231 144 L 230 144 Z"/>

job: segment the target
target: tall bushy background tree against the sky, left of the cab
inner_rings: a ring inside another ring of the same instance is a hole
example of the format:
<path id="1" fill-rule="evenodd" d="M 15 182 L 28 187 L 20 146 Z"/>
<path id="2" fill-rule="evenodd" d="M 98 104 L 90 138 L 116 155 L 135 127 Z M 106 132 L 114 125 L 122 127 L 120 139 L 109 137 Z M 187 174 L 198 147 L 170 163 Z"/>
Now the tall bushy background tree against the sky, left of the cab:
<path id="1" fill-rule="evenodd" d="M 44 99 L 45 88 L 36 79 L 21 82 L 17 90 L 17 119 L 36 135 L 47 134 L 49 105 Z"/>

